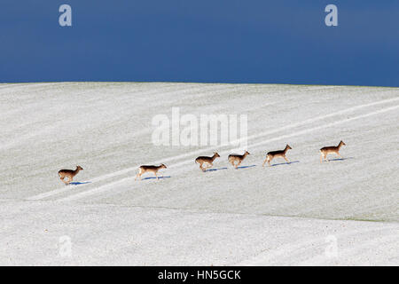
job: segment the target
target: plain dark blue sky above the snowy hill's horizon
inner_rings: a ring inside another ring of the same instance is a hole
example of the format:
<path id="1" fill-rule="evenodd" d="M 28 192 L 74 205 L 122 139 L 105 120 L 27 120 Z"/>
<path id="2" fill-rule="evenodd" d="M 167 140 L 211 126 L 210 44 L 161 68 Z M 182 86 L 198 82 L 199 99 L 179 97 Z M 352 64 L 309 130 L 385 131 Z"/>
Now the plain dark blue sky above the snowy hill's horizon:
<path id="1" fill-rule="evenodd" d="M 2 0 L 0 82 L 52 81 L 399 86 L 399 1 Z"/>

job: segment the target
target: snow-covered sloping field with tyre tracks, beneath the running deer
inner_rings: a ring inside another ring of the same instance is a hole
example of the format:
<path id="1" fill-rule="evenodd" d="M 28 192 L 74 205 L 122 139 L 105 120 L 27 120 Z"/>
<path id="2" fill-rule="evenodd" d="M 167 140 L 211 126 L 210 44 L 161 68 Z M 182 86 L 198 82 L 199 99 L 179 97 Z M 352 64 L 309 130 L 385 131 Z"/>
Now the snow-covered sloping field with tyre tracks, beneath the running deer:
<path id="1" fill-rule="evenodd" d="M 174 106 L 247 114 L 243 168 L 229 146 L 154 146 Z M 0 264 L 399 264 L 398 88 L 7 83 L 0 117 Z M 262 168 L 287 143 L 292 163 Z"/>

